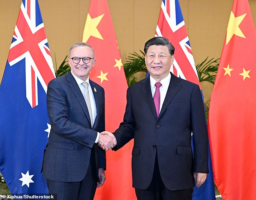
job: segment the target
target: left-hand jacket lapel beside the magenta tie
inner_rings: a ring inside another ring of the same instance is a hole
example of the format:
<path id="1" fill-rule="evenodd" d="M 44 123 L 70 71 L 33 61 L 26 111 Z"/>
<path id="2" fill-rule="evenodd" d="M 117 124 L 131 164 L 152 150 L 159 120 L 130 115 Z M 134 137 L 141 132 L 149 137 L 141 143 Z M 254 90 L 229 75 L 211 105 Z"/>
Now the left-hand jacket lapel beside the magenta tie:
<path id="1" fill-rule="evenodd" d="M 143 81 L 141 81 L 141 83 L 142 83 L 141 93 L 143 93 L 143 96 L 144 96 L 146 102 L 148 103 L 151 112 L 157 119 L 155 105 L 154 105 L 154 101 L 153 101 L 153 97 L 152 97 L 152 93 L 151 93 L 150 78 L 149 77 L 145 78 Z"/>

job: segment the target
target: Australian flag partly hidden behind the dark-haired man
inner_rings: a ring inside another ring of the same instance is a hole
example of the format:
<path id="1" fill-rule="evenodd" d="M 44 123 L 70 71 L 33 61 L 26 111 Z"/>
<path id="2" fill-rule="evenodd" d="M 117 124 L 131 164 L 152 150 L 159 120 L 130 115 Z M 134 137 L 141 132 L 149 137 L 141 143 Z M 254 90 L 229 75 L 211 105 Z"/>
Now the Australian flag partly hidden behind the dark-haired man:
<path id="1" fill-rule="evenodd" d="M 171 66 L 172 73 L 194 82 L 201 88 L 178 0 L 162 0 L 155 36 L 168 38 L 175 47 L 174 62 Z M 199 188 L 194 188 L 193 200 L 215 200 L 210 151 L 209 171 L 205 183 Z"/>

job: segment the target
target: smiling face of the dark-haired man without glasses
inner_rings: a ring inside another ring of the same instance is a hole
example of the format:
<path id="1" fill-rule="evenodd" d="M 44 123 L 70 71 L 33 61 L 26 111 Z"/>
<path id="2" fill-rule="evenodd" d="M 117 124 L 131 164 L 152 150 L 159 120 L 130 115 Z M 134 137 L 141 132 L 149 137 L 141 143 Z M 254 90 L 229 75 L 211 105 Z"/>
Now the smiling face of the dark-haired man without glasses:
<path id="1" fill-rule="evenodd" d="M 168 76 L 173 59 L 173 55 L 169 53 L 167 46 L 149 46 L 145 55 L 145 63 L 152 78 L 156 81 L 161 81 Z"/>

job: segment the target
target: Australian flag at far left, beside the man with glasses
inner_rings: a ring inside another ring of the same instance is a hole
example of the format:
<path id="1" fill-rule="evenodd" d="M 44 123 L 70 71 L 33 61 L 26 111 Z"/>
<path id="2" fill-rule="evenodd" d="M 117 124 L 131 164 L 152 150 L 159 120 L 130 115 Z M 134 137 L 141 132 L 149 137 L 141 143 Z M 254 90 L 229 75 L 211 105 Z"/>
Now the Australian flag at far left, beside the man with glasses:
<path id="1" fill-rule="evenodd" d="M 23 0 L 0 85 L 0 172 L 12 194 L 48 193 L 41 171 L 55 78 L 38 0 Z"/>

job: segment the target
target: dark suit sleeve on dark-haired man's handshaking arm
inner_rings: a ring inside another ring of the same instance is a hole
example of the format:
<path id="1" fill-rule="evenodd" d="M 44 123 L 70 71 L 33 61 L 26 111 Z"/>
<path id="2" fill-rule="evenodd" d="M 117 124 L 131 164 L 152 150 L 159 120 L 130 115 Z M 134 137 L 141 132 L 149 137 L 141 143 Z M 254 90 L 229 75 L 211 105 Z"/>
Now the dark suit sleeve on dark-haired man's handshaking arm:
<path id="1" fill-rule="evenodd" d="M 113 148 L 117 151 L 119 148 L 124 146 L 130 140 L 134 138 L 135 120 L 132 114 L 132 100 L 130 95 L 130 89 L 127 89 L 127 103 L 124 113 L 124 121 L 120 124 L 119 128 L 113 133 L 117 140 L 117 145 Z"/>

